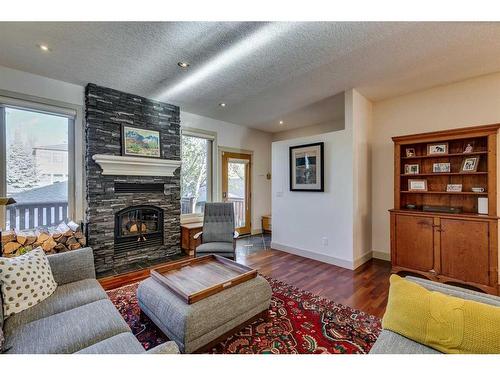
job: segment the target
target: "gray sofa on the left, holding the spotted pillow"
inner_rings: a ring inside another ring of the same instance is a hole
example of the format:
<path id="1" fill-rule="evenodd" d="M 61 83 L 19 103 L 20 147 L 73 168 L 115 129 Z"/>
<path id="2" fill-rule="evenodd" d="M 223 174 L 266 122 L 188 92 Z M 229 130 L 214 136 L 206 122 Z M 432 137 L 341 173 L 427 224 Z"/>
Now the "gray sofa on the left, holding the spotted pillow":
<path id="1" fill-rule="evenodd" d="M 96 280 L 92 249 L 48 259 L 58 287 L 46 300 L 3 321 L 7 353 L 179 352 L 172 341 L 144 350 Z"/>

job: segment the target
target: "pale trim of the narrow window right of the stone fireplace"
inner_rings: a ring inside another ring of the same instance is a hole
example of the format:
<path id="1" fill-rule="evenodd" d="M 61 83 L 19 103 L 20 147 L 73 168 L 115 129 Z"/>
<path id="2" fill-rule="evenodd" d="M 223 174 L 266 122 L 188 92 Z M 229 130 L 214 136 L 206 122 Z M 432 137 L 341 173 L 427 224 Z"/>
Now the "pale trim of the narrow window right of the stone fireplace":
<path id="1" fill-rule="evenodd" d="M 180 132 L 181 140 L 181 155 L 182 155 L 182 137 L 197 137 L 211 141 L 211 149 L 208 152 L 207 165 L 210 167 L 210 171 L 207 171 L 207 201 L 213 202 L 217 197 L 217 133 L 209 130 L 196 129 L 190 127 L 182 127 Z M 182 168 L 182 167 L 181 167 Z M 182 173 L 182 170 L 181 170 Z M 182 189 L 182 186 L 181 186 Z M 210 198 L 208 198 L 210 197 Z M 203 220 L 203 214 L 192 213 L 181 215 L 181 223 L 195 223 Z"/>

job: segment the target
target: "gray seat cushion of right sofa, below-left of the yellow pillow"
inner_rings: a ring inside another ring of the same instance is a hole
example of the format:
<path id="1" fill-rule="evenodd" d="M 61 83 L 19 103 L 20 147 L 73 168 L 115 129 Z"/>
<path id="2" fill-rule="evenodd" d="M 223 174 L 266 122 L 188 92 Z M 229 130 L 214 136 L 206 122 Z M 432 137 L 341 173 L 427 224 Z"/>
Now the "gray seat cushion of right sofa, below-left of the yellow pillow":
<path id="1" fill-rule="evenodd" d="M 437 350 L 384 329 L 370 354 L 440 354 Z"/>

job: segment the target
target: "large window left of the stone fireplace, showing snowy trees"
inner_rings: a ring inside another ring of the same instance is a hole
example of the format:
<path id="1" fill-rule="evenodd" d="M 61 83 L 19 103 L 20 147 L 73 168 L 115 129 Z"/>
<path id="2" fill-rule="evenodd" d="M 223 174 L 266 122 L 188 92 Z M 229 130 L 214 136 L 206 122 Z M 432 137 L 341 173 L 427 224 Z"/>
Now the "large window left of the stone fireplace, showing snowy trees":
<path id="1" fill-rule="evenodd" d="M 0 228 L 17 231 L 57 225 L 68 218 L 74 117 L 0 104 L 0 196 L 16 200 Z"/>

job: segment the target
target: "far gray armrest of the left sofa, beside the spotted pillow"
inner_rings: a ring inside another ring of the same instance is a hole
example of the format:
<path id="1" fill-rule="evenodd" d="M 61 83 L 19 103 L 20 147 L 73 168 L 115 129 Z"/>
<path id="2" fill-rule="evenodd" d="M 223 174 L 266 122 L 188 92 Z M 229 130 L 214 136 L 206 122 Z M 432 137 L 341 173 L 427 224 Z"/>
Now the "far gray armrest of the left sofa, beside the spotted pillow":
<path id="1" fill-rule="evenodd" d="M 50 268 L 57 284 L 95 279 L 94 253 L 90 247 L 48 255 Z"/>

